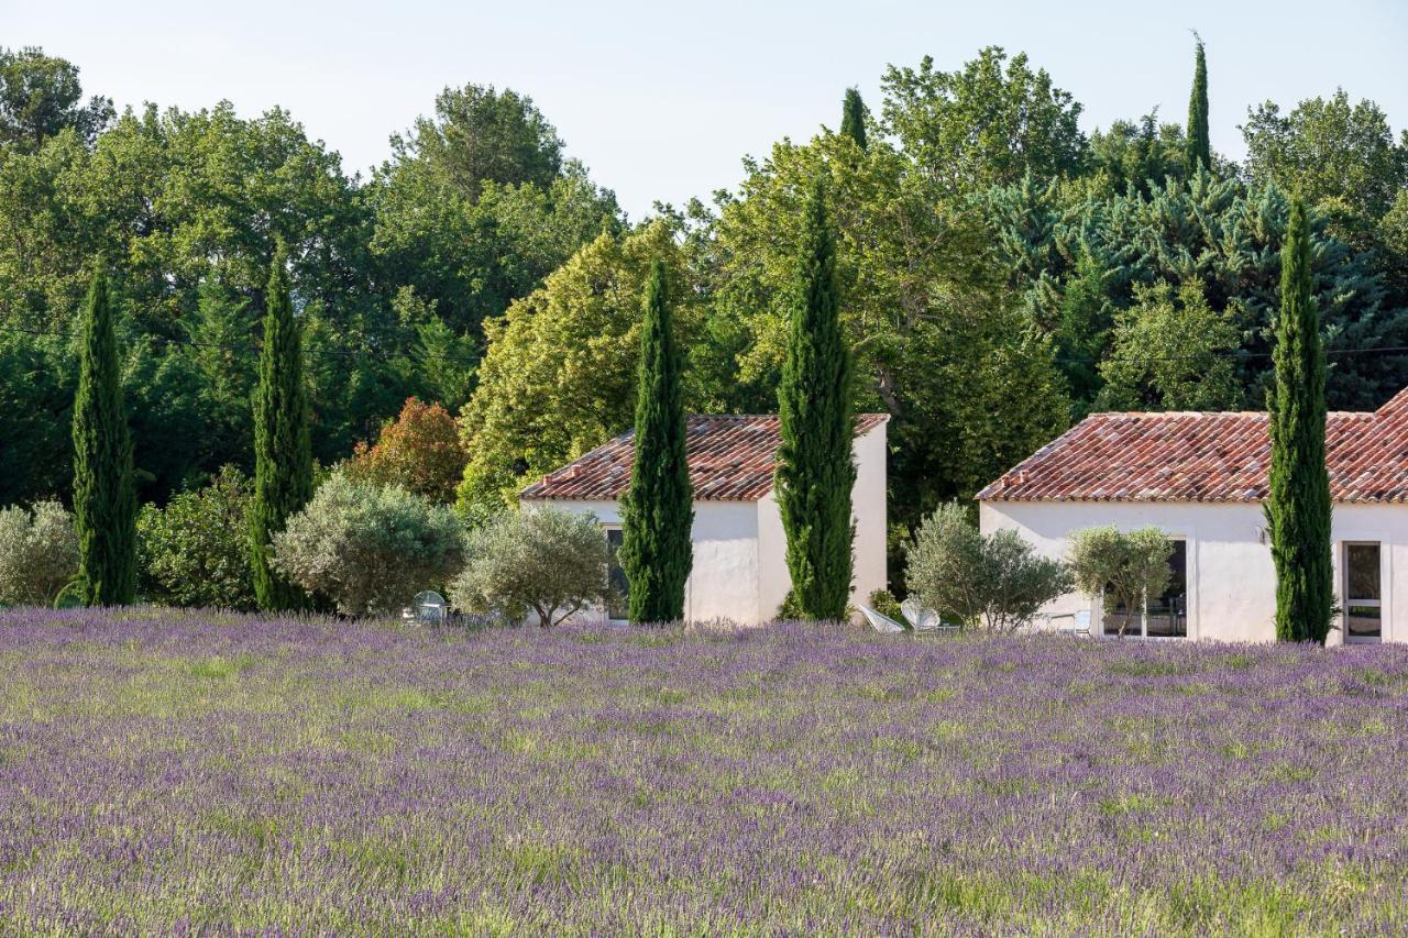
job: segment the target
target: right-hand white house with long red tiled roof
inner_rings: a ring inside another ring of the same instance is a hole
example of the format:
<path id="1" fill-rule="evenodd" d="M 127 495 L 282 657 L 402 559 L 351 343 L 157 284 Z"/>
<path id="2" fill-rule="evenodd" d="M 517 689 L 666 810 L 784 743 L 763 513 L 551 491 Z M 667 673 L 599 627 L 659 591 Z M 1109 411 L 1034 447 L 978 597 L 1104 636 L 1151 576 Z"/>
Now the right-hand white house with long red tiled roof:
<path id="1" fill-rule="evenodd" d="M 1408 390 L 1377 411 L 1329 414 L 1325 435 L 1342 608 L 1329 642 L 1408 641 Z M 1136 632 L 1273 641 L 1269 459 L 1264 413 L 1093 414 L 983 489 L 980 525 L 1014 528 L 1052 558 L 1081 528 L 1156 525 L 1174 538 L 1173 582 Z M 1048 611 L 1076 610 L 1095 634 L 1118 631 L 1121 617 L 1102 623 L 1090 597 Z"/>

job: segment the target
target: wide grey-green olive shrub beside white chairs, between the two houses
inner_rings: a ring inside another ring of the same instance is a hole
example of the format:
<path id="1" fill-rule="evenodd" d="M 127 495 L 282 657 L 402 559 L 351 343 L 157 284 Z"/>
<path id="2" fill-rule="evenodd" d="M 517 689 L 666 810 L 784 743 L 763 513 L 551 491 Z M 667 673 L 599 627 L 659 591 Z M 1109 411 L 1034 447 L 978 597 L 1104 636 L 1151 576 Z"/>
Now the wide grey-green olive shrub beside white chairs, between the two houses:
<path id="1" fill-rule="evenodd" d="M 943 504 L 905 548 L 910 593 L 942 618 L 1014 631 L 1071 590 L 1070 569 L 1039 556 L 1015 531 L 984 537 L 964 510 Z"/>

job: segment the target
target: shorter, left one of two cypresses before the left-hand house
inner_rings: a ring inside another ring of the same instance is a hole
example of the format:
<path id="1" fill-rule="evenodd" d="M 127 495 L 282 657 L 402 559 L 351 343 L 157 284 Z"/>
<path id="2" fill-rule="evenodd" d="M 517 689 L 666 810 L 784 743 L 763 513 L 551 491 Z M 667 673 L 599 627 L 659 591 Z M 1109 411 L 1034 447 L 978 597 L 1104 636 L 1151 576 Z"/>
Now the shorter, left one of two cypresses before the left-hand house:
<path id="1" fill-rule="evenodd" d="M 694 493 L 684 454 L 683 363 L 660 261 L 650 266 L 642 313 L 635 465 L 620 556 L 631 583 L 631 621 L 673 623 L 684 618 L 684 583 L 694 565 Z"/>

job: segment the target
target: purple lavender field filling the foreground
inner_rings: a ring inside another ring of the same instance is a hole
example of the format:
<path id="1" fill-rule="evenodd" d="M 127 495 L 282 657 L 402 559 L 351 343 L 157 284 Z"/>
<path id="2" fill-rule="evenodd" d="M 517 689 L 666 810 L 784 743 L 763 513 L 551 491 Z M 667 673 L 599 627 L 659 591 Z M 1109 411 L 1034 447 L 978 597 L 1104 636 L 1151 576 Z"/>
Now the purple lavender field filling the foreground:
<path id="1" fill-rule="evenodd" d="M 1404 932 L 1408 646 L 0 611 L 0 932 Z"/>

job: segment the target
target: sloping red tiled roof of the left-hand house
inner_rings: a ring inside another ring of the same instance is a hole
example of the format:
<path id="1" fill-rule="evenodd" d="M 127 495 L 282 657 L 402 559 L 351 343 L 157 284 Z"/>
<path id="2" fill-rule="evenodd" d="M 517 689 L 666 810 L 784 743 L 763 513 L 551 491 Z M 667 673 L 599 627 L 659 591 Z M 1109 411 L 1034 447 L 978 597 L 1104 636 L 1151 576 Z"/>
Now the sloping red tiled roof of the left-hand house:
<path id="1" fill-rule="evenodd" d="M 888 420 L 857 414 L 856 435 Z M 773 456 L 781 442 L 776 414 L 763 417 L 687 417 L 686 458 L 694 497 L 756 501 L 773 490 Z M 631 483 L 635 432 L 625 432 L 580 459 L 549 472 L 520 493 L 521 499 L 618 499 Z"/>

